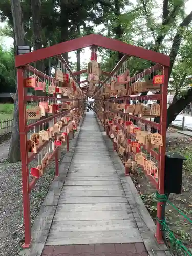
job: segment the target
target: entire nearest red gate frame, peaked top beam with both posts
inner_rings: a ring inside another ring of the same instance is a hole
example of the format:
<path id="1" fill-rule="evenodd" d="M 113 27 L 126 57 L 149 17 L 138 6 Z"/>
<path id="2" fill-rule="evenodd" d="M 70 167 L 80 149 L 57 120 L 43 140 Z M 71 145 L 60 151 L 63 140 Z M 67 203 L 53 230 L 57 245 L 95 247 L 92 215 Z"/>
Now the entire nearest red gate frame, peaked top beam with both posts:
<path id="1" fill-rule="evenodd" d="M 166 149 L 166 118 L 167 118 L 167 89 L 168 89 L 168 76 L 169 76 L 169 66 L 170 66 L 170 58 L 167 55 L 157 53 L 151 50 L 147 50 L 141 47 L 133 46 L 126 44 L 125 42 L 114 40 L 108 37 L 104 37 L 97 34 L 91 34 L 88 36 L 80 37 L 77 39 L 73 39 L 67 42 L 62 42 L 60 44 L 50 46 L 47 48 L 43 48 L 40 50 L 33 51 L 31 53 L 19 55 L 15 57 L 15 67 L 17 68 L 17 83 L 18 83 L 18 99 L 19 99 L 19 125 L 20 125 L 20 150 L 22 157 L 22 179 L 26 181 L 27 179 L 27 152 L 24 150 L 26 148 L 25 141 L 26 138 L 26 114 L 25 114 L 25 105 L 24 105 L 24 90 L 23 90 L 23 66 L 26 66 L 30 63 L 44 60 L 51 57 L 59 56 L 62 58 L 61 54 L 75 51 L 77 49 L 81 49 L 84 47 L 89 47 L 92 45 L 96 45 L 99 47 L 107 48 L 112 51 L 121 52 L 125 55 L 134 56 L 138 58 L 142 58 L 153 63 L 159 63 L 164 67 L 164 75 L 165 82 L 162 87 L 162 100 L 161 100 L 161 116 L 160 116 L 160 125 L 161 125 L 161 133 L 163 135 L 163 147 L 160 148 L 160 177 L 159 177 L 159 193 L 164 194 L 164 165 L 165 165 L 165 149 Z M 111 73 L 109 74 L 111 76 Z M 29 199 L 26 195 L 26 191 L 28 191 L 27 183 L 23 182 L 23 204 L 29 207 Z M 161 219 L 162 214 L 162 202 L 157 203 L 157 217 Z M 28 222 L 28 223 L 27 223 Z M 25 228 L 29 228 L 28 233 L 31 233 L 31 223 L 30 220 L 24 220 Z M 27 226 L 26 226 L 27 225 Z M 161 225 L 157 222 L 157 241 L 162 241 L 162 231 Z M 26 243 L 30 244 L 31 238 L 25 238 Z"/>

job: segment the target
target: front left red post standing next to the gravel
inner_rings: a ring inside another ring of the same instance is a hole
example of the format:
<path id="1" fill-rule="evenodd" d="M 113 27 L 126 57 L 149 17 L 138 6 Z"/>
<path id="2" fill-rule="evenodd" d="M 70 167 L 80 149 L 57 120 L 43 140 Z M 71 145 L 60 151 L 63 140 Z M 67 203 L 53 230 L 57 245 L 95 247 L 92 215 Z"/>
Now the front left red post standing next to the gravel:
<path id="1" fill-rule="evenodd" d="M 29 169 L 27 163 L 27 118 L 26 103 L 24 96 L 24 71 L 17 68 L 17 84 L 18 84 L 18 107 L 19 107 L 19 131 L 20 131 L 20 154 L 22 161 L 22 191 L 23 191 L 23 212 L 24 212 L 24 231 L 25 243 L 23 248 L 29 248 L 31 244 L 31 218 L 30 218 L 30 198 L 29 198 Z"/>

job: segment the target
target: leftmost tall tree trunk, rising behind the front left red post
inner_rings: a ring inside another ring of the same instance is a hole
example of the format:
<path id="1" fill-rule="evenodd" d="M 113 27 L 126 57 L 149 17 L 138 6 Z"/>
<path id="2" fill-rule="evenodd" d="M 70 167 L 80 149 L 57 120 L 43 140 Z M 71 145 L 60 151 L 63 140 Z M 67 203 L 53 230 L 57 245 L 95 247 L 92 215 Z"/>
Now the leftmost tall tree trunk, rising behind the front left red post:
<path id="1" fill-rule="evenodd" d="M 22 8 L 20 0 L 11 0 L 11 12 L 13 16 L 15 43 L 16 45 L 24 45 L 24 26 L 22 17 Z M 16 83 L 17 84 L 17 83 Z M 16 89 L 14 101 L 14 113 L 12 124 L 12 135 L 9 146 L 10 162 L 20 161 L 20 136 L 19 136 L 19 110 L 18 110 L 18 91 Z"/>

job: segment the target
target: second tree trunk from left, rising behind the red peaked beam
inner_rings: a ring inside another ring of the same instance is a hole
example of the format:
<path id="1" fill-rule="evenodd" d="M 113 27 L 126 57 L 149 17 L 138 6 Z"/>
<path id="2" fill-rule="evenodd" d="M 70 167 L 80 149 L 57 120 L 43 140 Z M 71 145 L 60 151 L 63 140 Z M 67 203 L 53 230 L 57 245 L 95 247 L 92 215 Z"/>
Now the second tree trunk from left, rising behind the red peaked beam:
<path id="1" fill-rule="evenodd" d="M 33 48 L 42 48 L 42 24 L 41 24 L 41 0 L 31 0 L 32 24 L 33 24 Z M 44 61 L 36 63 L 36 69 L 45 73 Z"/>

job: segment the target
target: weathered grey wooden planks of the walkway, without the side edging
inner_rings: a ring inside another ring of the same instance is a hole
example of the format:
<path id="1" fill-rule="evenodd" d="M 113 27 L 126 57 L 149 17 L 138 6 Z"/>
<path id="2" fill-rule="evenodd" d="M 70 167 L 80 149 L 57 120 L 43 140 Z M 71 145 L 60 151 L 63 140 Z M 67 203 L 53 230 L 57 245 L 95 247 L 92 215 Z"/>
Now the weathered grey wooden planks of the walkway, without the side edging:
<path id="1" fill-rule="evenodd" d="M 46 245 L 142 243 L 140 230 L 148 229 L 136 212 L 88 112 Z"/>

